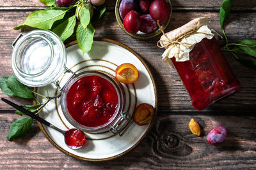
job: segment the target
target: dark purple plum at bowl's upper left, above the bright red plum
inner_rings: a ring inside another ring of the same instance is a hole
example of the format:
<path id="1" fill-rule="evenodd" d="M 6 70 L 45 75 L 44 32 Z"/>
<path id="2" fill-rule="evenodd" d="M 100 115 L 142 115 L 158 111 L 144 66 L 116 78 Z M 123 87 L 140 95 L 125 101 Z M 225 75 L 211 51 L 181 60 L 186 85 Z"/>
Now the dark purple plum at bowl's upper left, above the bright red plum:
<path id="1" fill-rule="evenodd" d="M 124 20 L 124 17 L 131 10 L 138 10 L 138 1 L 136 0 L 122 0 L 119 6 L 120 17 Z"/>

